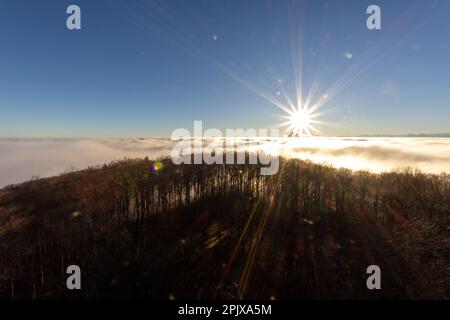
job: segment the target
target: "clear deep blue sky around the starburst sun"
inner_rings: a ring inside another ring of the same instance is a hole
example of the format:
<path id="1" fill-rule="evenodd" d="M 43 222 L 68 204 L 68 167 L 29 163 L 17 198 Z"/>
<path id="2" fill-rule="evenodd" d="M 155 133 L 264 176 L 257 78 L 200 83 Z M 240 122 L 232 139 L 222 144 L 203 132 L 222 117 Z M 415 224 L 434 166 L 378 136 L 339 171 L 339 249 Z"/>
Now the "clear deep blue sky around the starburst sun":
<path id="1" fill-rule="evenodd" d="M 300 2 L 2 0 L 0 136 L 273 127 L 283 112 L 250 87 L 295 96 L 289 12 Z M 82 30 L 66 28 L 70 4 Z M 381 30 L 366 28 L 370 4 Z M 450 132 L 449 15 L 447 0 L 305 0 L 302 91 L 345 83 L 319 109 L 320 131 Z"/>

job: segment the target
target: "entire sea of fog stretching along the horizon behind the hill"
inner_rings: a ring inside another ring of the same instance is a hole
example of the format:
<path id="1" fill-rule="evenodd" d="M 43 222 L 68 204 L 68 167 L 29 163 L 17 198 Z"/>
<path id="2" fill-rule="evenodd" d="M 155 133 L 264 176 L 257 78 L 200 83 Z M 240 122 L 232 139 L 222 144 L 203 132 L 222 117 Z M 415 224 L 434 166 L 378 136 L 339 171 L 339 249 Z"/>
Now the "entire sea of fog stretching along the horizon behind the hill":
<path id="1" fill-rule="evenodd" d="M 450 172 L 450 138 L 308 137 L 242 140 L 248 150 L 372 172 L 403 167 Z M 0 139 L 0 187 L 123 158 L 170 156 L 169 139 Z M 238 149 L 244 148 L 243 146 Z"/>

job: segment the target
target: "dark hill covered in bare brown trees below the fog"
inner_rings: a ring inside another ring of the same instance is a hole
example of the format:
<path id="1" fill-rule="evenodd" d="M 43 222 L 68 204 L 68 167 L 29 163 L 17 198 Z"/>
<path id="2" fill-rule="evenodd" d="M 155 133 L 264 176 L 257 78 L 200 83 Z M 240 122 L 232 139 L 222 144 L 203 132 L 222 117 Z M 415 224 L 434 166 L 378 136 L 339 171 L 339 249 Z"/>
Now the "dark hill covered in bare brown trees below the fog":
<path id="1" fill-rule="evenodd" d="M 124 160 L 3 189 L 0 298 L 450 298 L 448 175 L 259 169 Z"/>

